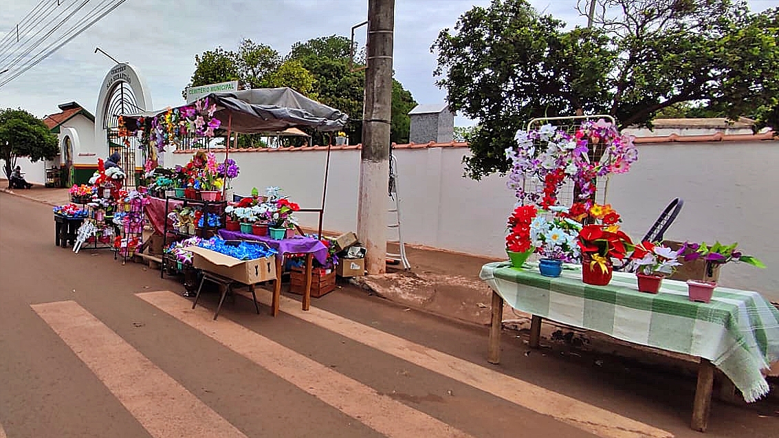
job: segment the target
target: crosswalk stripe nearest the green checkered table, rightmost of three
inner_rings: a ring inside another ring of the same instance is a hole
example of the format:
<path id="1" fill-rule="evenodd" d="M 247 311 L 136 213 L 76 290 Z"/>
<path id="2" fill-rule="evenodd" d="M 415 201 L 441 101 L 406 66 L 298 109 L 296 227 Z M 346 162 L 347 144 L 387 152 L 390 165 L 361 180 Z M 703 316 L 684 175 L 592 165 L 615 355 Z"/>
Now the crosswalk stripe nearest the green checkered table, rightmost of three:
<path id="1" fill-rule="evenodd" d="M 266 294 L 263 291 L 264 289 L 257 289 L 257 299 L 263 304 L 269 305 L 270 293 Z M 248 292 L 239 291 L 239 293 Z M 249 294 L 248 297 L 251 299 L 252 295 Z M 672 433 L 663 429 L 657 429 L 615 412 L 598 408 L 512 376 L 506 376 L 485 366 L 476 365 L 441 351 L 415 344 L 402 337 L 348 320 L 323 309 L 311 307 L 310 310 L 304 311 L 300 308 L 300 302 L 292 298 L 282 296 L 280 308 L 284 313 L 308 323 L 458 380 L 523 408 L 549 415 L 597 436 L 604 438 L 667 438 L 673 436 Z M 486 347 L 487 341 L 485 339 L 485 351 Z"/>

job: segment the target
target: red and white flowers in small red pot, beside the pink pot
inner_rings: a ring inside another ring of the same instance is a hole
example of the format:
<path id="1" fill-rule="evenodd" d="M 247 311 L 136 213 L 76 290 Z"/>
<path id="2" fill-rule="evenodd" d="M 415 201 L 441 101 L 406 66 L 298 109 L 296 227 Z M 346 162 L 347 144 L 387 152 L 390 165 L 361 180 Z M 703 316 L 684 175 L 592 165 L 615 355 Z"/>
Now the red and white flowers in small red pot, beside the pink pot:
<path id="1" fill-rule="evenodd" d="M 659 243 L 641 242 L 633 249 L 628 267 L 636 270 L 639 291 L 656 294 L 663 278 L 682 264 L 678 259 L 679 251 Z"/>

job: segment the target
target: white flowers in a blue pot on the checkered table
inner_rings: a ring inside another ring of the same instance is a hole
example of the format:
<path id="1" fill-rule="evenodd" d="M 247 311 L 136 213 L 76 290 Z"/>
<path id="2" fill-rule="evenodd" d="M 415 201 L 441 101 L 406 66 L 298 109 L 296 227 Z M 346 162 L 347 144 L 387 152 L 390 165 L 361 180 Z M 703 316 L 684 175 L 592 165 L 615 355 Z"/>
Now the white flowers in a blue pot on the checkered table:
<path id="1" fill-rule="evenodd" d="M 562 263 L 570 263 L 579 257 L 576 231 L 580 224 L 560 217 L 547 219 L 536 216 L 530 223 L 530 240 L 541 255 L 538 270 L 545 277 L 559 277 Z"/>

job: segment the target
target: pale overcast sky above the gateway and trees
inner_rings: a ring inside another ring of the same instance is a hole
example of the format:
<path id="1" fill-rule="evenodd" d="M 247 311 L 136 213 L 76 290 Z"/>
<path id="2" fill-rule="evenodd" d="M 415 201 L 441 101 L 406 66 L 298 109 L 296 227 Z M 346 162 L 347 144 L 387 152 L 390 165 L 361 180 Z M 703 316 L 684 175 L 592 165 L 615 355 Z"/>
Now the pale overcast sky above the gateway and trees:
<path id="1" fill-rule="evenodd" d="M 66 4 L 76 1 L 83 0 L 61 0 Z M 0 2 L 2 39 L 40 0 Z M 530 3 L 569 24 L 584 22 L 576 12 L 576 0 Z M 445 97 L 432 76 L 436 63 L 430 45 L 439 31 L 452 27 L 473 5 L 488 4 L 488 0 L 396 1 L 393 64 L 396 78 L 416 101 L 434 104 Z M 749 5 L 762 11 L 779 5 L 779 0 L 751 0 Z M 182 104 L 181 90 L 195 69 L 196 54 L 217 46 L 233 49 L 242 38 L 250 38 L 286 55 L 297 41 L 331 34 L 349 36 L 351 26 L 365 21 L 367 12 L 367 0 L 127 0 L 49 58 L 0 87 L 0 108 L 21 107 L 43 117 L 59 112 L 58 104 L 77 101 L 94 114 L 100 83 L 114 65 L 104 55 L 95 54 L 96 47 L 139 69 L 155 109 Z M 456 120 L 456 125 L 470 124 L 465 118 Z"/>

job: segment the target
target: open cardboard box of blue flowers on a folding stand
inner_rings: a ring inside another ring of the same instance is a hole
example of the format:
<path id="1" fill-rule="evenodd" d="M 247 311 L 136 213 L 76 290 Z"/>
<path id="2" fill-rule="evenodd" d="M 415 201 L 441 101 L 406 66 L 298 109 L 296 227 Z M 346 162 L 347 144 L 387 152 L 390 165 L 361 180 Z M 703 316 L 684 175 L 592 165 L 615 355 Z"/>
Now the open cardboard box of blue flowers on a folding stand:
<path id="1" fill-rule="evenodd" d="M 273 256 L 255 260 L 238 260 L 199 246 L 189 246 L 185 249 L 192 251 L 194 255 L 192 264 L 196 268 L 231 278 L 243 284 L 255 284 L 276 278 L 276 260 Z"/>

